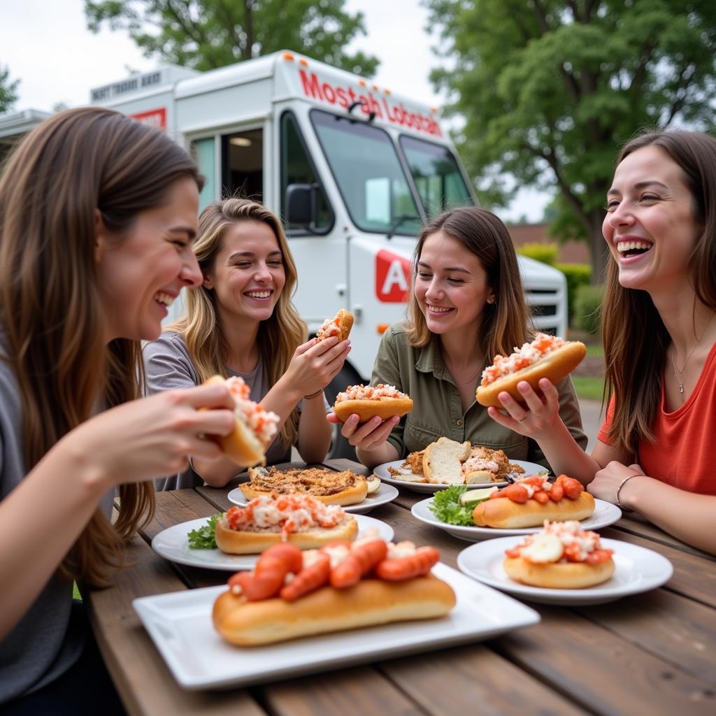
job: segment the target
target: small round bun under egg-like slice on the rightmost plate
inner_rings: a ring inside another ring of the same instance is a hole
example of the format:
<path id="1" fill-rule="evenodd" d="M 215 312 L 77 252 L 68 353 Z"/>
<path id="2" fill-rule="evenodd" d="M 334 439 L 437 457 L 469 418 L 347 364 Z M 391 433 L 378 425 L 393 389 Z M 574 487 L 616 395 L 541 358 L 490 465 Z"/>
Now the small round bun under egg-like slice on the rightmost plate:
<path id="1" fill-rule="evenodd" d="M 547 589 L 584 589 L 601 584 L 614 574 L 614 560 L 586 562 L 533 563 L 523 557 L 507 557 L 503 569 L 515 581 Z"/>

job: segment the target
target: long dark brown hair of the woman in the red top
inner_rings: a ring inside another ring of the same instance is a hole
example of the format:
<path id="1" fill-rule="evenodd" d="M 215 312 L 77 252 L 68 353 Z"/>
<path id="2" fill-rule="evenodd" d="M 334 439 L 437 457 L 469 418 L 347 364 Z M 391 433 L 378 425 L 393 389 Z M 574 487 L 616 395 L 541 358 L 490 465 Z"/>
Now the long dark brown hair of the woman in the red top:
<path id="1" fill-rule="evenodd" d="M 616 164 L 642 147 L 662 149 L 682 169 L 693 198 L 694 219 L 702 227 L 689 258 L 697 299 L 716 309 L 716 138 L 700 132 L 657 130 L 624 145 Z M 619 266 L 609 261 L 602 306 L 606 357 L 605 392 L 614 395 L 609 437 L 625 455 L 637 452 L 639 440 L 652 440 L 659 410 L 667 349 L 671 337 L 646 291 L 619 284 Z"/>

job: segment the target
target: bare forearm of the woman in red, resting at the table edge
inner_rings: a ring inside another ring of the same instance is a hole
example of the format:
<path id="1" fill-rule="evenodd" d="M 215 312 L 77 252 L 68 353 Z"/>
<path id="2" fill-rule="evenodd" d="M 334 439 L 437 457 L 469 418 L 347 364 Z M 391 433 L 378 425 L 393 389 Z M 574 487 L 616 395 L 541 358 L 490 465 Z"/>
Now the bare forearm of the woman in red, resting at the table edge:
<path id="1" fill-rule="evenodd" d="M 716 496 L 679 490 L 647 475 L 627 480 L 619 502 L 687 544 L 716 554 Z"/>

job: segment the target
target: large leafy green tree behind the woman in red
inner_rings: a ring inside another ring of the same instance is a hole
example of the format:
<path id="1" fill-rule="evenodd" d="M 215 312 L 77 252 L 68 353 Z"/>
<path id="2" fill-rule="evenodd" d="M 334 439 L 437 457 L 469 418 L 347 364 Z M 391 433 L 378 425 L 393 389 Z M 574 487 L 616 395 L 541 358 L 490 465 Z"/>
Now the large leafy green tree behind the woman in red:
<path id="1" fill-rule="evenodd" d="M 424 2 L 445 60 L 431 79 L 465 120 L 456 139 L 478 187 L 513 175 L 556 191 L 553 231 L 589 241 L 599 281 L 619 144 L 642 127 L 713 125 L 716 3 Z M 504 204 L 504 186 L 489 200 Z"/>

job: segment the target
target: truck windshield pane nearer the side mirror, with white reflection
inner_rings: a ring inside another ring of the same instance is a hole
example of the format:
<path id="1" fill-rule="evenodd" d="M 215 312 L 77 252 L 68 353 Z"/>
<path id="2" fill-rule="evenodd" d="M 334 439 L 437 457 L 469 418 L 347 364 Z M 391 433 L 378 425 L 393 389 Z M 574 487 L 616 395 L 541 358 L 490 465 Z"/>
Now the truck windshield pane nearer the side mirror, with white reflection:
<path id="1" fill-rule="evenodd" d="M 354 224 L 415 236 L 420 213 L 388 133 L 321 110 L 311 110 L 311 122 Z"/>

